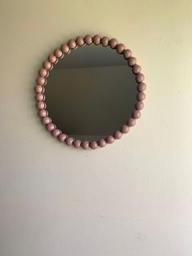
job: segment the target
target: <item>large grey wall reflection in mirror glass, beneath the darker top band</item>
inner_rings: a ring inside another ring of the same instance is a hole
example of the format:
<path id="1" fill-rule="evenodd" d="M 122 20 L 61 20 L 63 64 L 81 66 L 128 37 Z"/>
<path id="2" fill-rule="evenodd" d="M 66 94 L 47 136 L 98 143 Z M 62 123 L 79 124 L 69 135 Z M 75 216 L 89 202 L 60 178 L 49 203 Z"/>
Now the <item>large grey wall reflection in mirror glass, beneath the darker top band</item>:
<path id="1" fill-rule="evenodd" d="M 103 137 L 131 116 L 136 88 L 127 65 L 55 69 L 46 86 L 46 103 L 58 127 L 64 123 L 71 135 Z"/>

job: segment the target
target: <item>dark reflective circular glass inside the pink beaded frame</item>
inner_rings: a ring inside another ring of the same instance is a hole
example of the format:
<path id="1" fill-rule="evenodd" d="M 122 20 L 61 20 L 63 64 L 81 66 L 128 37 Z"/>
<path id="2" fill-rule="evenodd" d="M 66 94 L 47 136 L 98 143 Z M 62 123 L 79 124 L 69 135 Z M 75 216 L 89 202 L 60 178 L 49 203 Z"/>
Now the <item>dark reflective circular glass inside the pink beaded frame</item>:
<path id="1" fill-rule="evenodd" d="M 45 95 L 58 129 L 74 139 L 92 141 L 126 124 L 136 102 L 137 82 L 116 50 L 85 45 L 54 65 Z"/>

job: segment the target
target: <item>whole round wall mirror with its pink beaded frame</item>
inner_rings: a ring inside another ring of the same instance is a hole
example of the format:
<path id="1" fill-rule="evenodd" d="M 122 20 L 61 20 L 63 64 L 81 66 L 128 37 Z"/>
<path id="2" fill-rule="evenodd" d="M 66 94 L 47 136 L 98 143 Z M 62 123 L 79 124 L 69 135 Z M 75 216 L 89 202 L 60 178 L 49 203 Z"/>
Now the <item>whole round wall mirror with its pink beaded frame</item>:
<path id="1" fill-rule="evenodd" d="M 120 139 L 141 115 L 146 85 L 140 72 L 131 51 L 116 39 L 70 40 L 40 70 L 39 115 L 60 141 L 76 148 L 103 147 Z"/>

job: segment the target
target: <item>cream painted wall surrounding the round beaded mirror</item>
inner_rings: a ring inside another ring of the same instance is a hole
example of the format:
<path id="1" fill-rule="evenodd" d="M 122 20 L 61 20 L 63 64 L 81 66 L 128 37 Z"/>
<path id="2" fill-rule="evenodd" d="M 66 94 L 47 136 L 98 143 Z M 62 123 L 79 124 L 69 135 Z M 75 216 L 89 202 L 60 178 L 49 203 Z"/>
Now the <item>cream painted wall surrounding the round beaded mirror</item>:
<path id="1" fill-rule="evenodd" d="M 192 255 L 192 2 L 0 2 L 0 255 Z M 46 55 L 79 34 L 118 38 L 148 85 L 124 139 L 79 151 L 34 108 Z"/>

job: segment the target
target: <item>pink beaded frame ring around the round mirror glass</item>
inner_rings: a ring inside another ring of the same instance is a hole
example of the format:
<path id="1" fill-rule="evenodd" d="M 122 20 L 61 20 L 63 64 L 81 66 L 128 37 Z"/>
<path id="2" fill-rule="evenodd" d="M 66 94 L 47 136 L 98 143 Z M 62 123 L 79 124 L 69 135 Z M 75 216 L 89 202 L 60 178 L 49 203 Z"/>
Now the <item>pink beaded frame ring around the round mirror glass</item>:
<path id="1" fill-rule="evenodd" d="M 132 68 L 133 74 L 137 82 L 137 99 L 132 113 L 132 117 L 128 118 L 128 121 L 120 127 L 120 130 L 116 130 L 113 135 L 108 135 L 107 138 L 99 139 L 98 141 L 81 141 L 74 139 L 70 135 L 63 133 L 62 130 L 52 122 L 49 117 L 49 113 L 46 110 L 46 96 L 44 95 L 47 77 L 49 76 L 50 70 L 58 63 L 58 60 L 63 58 L 64 55 L 68 55 L 71 51 L 76 50 L 78 46 L 85 46 L 93 44 L 98 46 L 110 46 L 111 49 L 116 50 L 117 54 L 123 55 L 124 59 L 127 60 L 129 67 Z M 144 90 L 146 90 L 146 84 L 144 83 L 144 75 L 141 73 L 142 68 L 137 64 L 137 60 L 133 57 L 132 52 L 127 49 L 123 43 L 118 43 L 116 38 L 100 37 L 99 35 L 86 35 L 83 37 L 77 37 L 71 39 L 68 43 L 64 43 L 59 49 L 56 49 L 53 54 L 48 56 L 48 59 L 42 64 L 42 68 L 39 70 L 39 76 L 37 77 L 37 84 L 35 86 L 36 100 L 38 115 L 41 117 L 42 123 L 46 126 L 46 130 L 58 139 L 61 143 L 66 143 L 68 146 L 74 146 L 75 148 L 103 148 L 108 143 L 114 143 L 116 139 L 120 139 L 122 135 L 129 132 L 129 128 L 135 126 L 136 120 L 141 117 L 141 110 L 144 107 L 143 100 L 146 99 Z"/>

